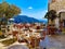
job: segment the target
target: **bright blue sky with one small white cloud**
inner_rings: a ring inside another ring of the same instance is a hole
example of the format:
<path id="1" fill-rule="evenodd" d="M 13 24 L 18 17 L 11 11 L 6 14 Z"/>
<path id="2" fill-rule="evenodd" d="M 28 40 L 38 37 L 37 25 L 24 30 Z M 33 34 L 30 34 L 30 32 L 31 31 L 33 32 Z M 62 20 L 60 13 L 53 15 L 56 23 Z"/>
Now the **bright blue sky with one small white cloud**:
<path id="1" fill-rule="evenodd" d="M 5 0 L 21 8 L 21 15 L 42 19 L 48 11 L 48 0 Z M 0 0 L 2 2 L 2 0 Z"/>

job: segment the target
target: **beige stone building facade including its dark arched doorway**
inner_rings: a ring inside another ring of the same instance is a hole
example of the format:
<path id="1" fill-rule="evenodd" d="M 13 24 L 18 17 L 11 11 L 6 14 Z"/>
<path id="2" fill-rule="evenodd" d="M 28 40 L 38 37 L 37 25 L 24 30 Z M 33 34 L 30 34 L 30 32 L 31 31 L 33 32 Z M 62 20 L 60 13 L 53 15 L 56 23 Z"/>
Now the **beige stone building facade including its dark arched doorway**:
<path id="1" fill-rule="evenodd" d="M 49 0 L 49 11 L 50 10 L 55 10 L 57 16 L 60 16 L 60 19 L 55 19 L 60 20 L 56 23 L 62 23 L 62 25 L 65 26 L 65 0 Z"/>

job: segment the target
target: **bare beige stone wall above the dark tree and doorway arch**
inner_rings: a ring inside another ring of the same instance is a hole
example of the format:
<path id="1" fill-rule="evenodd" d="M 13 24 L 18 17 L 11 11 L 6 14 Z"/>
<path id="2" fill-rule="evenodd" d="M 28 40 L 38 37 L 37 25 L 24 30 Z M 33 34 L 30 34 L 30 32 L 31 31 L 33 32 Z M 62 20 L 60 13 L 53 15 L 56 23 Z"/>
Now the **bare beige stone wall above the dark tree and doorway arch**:
<path id="1" fill-rule="evenodd" d="M 65 0 L 56 0 L 55 2 L 50 3 L 49 10 L 55 10 L 56 12 L 65 10 Z"/>

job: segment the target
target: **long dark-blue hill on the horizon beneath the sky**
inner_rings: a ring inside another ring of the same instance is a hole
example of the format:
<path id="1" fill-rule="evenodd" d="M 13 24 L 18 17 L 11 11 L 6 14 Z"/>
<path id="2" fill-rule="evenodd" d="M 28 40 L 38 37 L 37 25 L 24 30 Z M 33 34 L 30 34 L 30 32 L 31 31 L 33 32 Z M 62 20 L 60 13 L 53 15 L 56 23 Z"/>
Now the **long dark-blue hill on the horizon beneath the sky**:
<path id="1" fill-rule="evenodd" d="M 43 23 L 41 20 L 29 17 L 27 15 L 17 15 L 14 16 L 14 23 Z"/>

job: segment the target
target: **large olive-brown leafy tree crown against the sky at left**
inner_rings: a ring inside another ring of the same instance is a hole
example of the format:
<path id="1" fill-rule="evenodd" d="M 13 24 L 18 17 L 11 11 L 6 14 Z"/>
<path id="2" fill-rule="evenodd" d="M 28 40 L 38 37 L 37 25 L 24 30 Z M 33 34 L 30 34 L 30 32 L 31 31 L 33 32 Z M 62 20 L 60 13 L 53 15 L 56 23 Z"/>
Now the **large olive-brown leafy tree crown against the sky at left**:
<path id="1" fill-rule="evenodd" d="M 11 19 L 21 13 L 21 9 L 14 4 L 9 4 L 5 1 L 0 3 L 0 17 Z M 1 20 L 2 22 L 2 20 Z M 4 22 L 4 21 L 3 21 Z"/>

